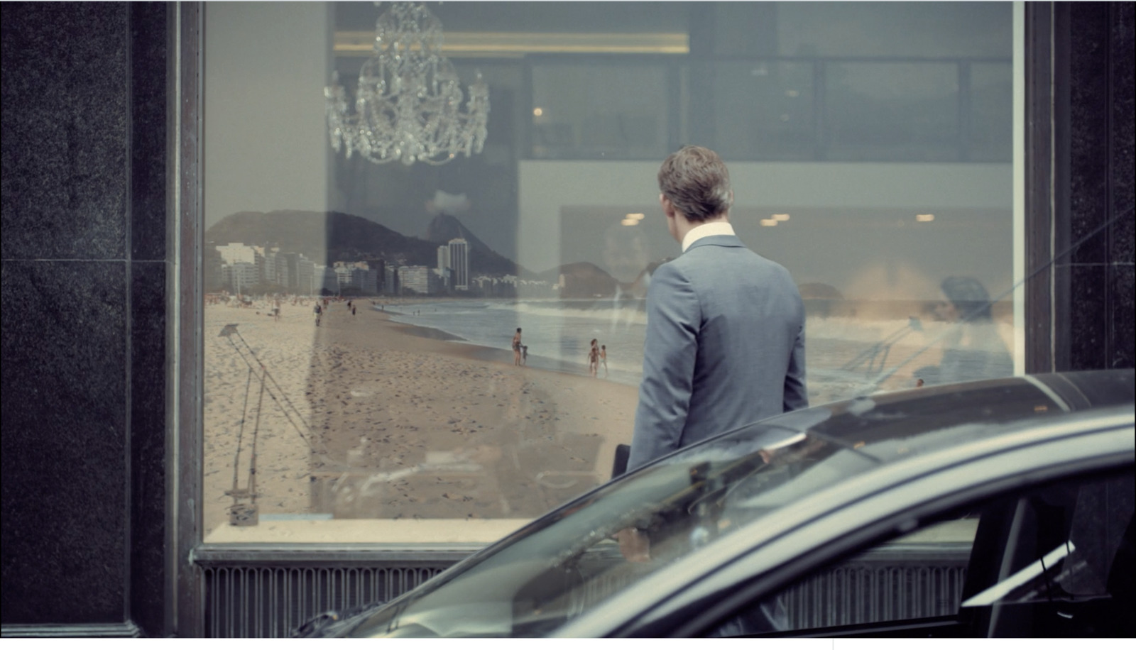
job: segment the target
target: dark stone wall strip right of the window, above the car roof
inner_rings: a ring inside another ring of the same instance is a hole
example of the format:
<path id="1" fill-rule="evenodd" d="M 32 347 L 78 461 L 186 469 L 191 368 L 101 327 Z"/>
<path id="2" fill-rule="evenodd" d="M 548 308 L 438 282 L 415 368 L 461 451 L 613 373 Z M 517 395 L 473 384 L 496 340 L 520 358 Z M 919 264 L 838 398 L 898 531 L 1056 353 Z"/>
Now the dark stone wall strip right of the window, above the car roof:
<path id="1" fill-rule="evenodd" d="M 1058 369 L 1133 367 L 1133 8 L 1056 11 L 1055 252 L 1083 242 L 1054 265 Z"/>

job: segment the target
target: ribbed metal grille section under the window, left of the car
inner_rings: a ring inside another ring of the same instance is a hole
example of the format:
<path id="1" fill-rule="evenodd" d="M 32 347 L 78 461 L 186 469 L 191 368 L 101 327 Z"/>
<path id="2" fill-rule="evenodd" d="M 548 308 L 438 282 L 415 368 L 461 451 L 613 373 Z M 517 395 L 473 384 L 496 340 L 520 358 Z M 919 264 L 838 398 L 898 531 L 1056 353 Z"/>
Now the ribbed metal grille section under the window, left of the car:
<path id="1" fill-rule="evenodd" d="M 204 567 L 204 634 L 287 636 L 320 612 L 391 600 L 448 566 Z"/>

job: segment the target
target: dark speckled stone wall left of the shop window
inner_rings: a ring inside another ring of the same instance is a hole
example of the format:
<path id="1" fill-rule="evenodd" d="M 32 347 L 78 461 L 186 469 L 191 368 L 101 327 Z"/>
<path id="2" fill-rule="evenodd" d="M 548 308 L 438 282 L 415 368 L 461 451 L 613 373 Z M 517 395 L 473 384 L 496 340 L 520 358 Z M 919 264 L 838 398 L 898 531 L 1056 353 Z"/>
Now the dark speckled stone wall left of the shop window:
<path id="1" fill-rule="evenodd" d="M 2 623 L 161 634 L 166 6 L 0 11 Z"/>

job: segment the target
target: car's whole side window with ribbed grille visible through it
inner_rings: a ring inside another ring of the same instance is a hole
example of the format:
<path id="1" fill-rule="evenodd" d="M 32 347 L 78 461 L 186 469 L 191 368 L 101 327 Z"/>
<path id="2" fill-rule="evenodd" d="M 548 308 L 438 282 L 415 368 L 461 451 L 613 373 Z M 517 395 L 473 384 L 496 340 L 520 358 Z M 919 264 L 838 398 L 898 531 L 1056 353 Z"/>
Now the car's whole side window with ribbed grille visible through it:
<path id="1" fill-rule="evenodd" d="M 1131 635 L 1133 493 L 1129 473 L 985 501 L 813 570 L 708 635 L 903 622 L 951 635 Z"/>

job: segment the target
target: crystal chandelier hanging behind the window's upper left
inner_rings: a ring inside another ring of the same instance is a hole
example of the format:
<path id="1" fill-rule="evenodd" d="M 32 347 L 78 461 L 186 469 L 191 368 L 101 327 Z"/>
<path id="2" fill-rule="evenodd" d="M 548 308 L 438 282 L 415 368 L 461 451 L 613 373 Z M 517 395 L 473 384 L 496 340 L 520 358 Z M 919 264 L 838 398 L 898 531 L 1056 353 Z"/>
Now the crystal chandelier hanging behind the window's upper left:
<path id="1" fill-rule="evenodd" d="M 375 2 L 379 5 L 379 2 Z M 444 165 L 481 153 L 490 90 L 477 73 L 469 100 L 453 64 L 442 56 L 442 22 L 423 2 L 391 2 L 375 23 L 375 52 L 359 70 L 354 110 L 333 73 L 327 98 L 332 149 L 383 164 Z"/>

